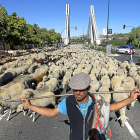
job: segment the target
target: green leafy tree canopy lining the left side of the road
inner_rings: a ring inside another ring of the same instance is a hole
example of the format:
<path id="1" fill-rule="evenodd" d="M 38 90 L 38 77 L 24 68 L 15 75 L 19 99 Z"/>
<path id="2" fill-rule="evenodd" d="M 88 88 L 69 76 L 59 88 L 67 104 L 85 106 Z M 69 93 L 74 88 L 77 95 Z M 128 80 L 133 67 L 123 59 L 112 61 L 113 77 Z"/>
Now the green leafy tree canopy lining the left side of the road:
<path id="1" fill-rule="evenodd" d="M 16 12 L 8 15 L 5 7 L 0 5 L 0 40 L 3 44 L 35 44 L 43 47 L 59 43 L 60 33 L 56 33 L 54 29 L 40 28 L 35 23 L 27 24 L 24 17 L 19 18 Z"/>

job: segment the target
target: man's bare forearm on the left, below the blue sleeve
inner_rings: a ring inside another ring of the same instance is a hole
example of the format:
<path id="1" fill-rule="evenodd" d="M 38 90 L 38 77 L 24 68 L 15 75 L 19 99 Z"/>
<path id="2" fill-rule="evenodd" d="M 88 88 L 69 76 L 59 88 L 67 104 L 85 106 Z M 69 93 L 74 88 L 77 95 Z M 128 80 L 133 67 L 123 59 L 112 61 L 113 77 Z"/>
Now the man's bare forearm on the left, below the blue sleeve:
<path id="1" fill-rule="evenodd" d="M 26 108 L 31 109 L 32 111 L 37 112 L 41 115 L 53 117 L 53 116 L 61 114 L 58 108 L 50 109 L 50 108 L 38 107 L 38 106 L 32 105 L 30 101 L 25 97 L 20 98 L 20 100 L 22 101 L 23 105 Z"/>

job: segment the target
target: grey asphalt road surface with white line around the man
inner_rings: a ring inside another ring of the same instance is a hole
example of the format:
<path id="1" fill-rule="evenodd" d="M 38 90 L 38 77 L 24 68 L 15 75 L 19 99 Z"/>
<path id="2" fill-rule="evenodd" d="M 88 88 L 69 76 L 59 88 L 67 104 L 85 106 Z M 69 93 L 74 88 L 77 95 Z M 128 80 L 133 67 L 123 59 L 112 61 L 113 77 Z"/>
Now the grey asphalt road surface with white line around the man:
<path id="1" fill-rule="evenodd" d="M 123 54 L 113 57 L 120 61 L 128 60 L 128 56 Z M 133 58 L 134 62 L 137 63 L 138 56 Z M 71 92 L 69 91 L 69 93 Z M 116 121 L 115 112 L 110 113 L 111 140 L 135 140 L 137 136 L 140 138 L 139 107 L 140 102 L 137 100 L 134 108 L 126 109 L 131 129 L 126 126 L 122 128 L 120 123 Z M 29 118 L 30 113 L 28 112 L 26 116 L 23 116 L 22 112 L 13 113 L 8 122 L 6 121 L 8 114 L 3 116 L 0 120 L 0 140 L 69 140 L 69 120 L 66 114 L 53 118 L 36 114 L 36 121 L 33 123 L 32 119 Z M 132 134 L 129 132 L 130 130 Z"/>

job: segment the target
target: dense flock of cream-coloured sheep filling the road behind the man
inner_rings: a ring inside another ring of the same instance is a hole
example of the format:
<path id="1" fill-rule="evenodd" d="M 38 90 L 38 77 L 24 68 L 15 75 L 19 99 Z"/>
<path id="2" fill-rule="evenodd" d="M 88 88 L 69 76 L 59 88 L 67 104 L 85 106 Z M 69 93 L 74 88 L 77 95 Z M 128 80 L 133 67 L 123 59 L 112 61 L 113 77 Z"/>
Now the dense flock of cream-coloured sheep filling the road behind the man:
<path id="1" fill-rule="evenodd" d="M 21 102 L 5 102 L 9 96 L 10 100 L 16 100 L 23 96 L 34 98 L 51 95 L 51 98 L 31 100 L 31 103 L 41 107 L 50 104 L 56 107 L 55 91 L 60 86 L 68 91 L 71 76 L 79 72 L 90 75 L 91 93 L 140 88 L 140 66 L 132 62 L 129 64 L 128 61 L 120 62 L 103 52 L 76 45 L 53 51 L 48 51 L 47 48 L 38 49 L 35 53 L 24 51 L 24 55 L 3 58 L 0 64 L 1 114 L 6 108 L 10 108 L 7 120 L 10 119 L 12 110 L 23 111 L 24 115 L 26 114 L 27 108 Z M 112 100 L 118 102 L 129 97 L 130 93 L 102 94 L 102 96 L 108 102 Z M 99 94 L 96 94 L 96 98 L 99 98 Z M 131 104 L 132 107 L 134 103 L 135 101 Z M 122 127 L 127 119 L 125 110 L 126 107 L 119 110 L 118 120 Z M 34 122 L 35 112 L 32 112 L 30 117 L 33 117 Z"/>

